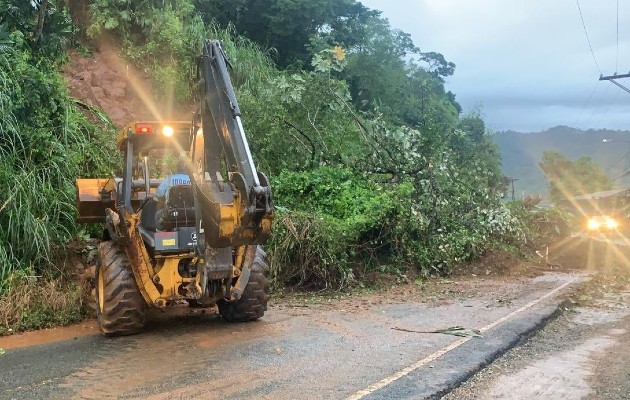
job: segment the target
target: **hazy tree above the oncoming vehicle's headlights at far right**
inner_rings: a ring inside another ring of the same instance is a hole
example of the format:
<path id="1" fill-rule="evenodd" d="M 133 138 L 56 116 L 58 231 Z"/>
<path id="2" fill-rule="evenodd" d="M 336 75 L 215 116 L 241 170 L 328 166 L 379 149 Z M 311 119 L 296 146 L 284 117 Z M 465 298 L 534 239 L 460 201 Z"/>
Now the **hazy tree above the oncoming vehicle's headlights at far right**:
<path id="1" fill-rule="evenodd" d="M 555 203 L 573 196 L 612 189 L 604 171 L 590 157 L 571 161 L 561 153 L 545 151 L 539 165 L 547 177 L 551 200 Z"/>

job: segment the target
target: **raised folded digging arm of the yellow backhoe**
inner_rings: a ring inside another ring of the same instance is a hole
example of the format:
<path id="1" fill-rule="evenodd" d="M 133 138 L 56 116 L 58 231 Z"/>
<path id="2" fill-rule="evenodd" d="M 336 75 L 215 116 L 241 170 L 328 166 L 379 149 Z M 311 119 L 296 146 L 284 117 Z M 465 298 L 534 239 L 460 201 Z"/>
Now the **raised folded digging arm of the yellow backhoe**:
<path id="1" fill-rule="evenodd" d="M 220 42 L 206 40 L 197 65 L 199 111 L 193 124 L 192 174 L 198 250 L 262 244 L 273 202 L 267 177 L 256 171 Z"/>

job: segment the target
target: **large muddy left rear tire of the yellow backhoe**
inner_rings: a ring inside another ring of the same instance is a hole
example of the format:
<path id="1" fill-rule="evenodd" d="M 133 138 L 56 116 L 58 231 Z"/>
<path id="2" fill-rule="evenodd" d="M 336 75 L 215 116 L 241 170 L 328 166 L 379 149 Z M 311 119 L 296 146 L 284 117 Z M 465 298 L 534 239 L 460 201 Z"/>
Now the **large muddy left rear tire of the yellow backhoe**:
<path id="1" fill-rule="evenodd" d="M 144 327 L 146 302 L 127 254 L 111 240 L 98 246 L 96 317 L 105 336 L 131 335 Z"/>

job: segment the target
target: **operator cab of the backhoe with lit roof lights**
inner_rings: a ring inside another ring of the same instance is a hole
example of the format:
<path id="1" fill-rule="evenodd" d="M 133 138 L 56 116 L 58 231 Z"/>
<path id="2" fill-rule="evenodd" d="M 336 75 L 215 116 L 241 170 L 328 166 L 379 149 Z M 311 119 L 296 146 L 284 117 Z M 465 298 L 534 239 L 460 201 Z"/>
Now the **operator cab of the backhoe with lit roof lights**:
<path id="1" fill-rule="evenodd" d="M 126 206 L 130 203 L 130 211 L 140 212 L 138 230 L 149 251 L 156 255 L 194 253 L 197 230 L 192 186 L 189 179 L 171 179 L 176 173 L 187 176 L 191 169 L 186 166 L 184 171 L 178 171 L 182 168 L 177 166 L 178 160 L 188 158 L 191 124 L 145 122 L 132 125 L 121 131 L 119 146 L 131 167 L 124 173 L 137 184 L 130 188 L 130 196 L 126 188 L 119 187 L 118 203 Z M 158 196 L 158 187 L 167 179 L 169 184 L 164 196 Z M 127 202 L 128 198 L 137 201 Z"/>

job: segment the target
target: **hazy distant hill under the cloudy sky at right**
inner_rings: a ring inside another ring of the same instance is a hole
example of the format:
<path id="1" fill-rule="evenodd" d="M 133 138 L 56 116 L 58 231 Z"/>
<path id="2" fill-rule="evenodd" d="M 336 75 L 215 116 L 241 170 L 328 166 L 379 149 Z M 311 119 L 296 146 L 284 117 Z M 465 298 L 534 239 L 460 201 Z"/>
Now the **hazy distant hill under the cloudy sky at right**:
<path id="1" fill-rule="evenodd" d="M 494 141 L 503 158 L 503 172 L 518 179 L 514 182 L 516 197 L 542 194 L 547 198 L 547 180 L 538 163 L 545 150 L 554 150 L 574 160 L 582 156 L 593 159 L 613 180 L 616 187 L 630 186 L 630 131 L 588 130 L 556 126 L 542 132 L 498 132 Z M 603 139 L 613 140 L 604 143 Z"/>

